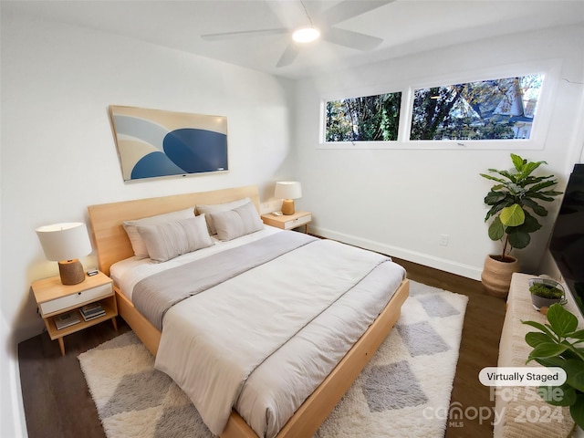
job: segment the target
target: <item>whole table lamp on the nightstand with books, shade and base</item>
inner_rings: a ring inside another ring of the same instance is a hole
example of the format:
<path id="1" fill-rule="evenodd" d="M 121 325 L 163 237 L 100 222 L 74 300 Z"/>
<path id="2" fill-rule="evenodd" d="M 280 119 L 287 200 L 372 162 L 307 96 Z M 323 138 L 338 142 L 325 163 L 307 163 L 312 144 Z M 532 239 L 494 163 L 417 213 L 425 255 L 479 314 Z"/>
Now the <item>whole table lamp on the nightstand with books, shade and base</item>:
<path id="1" fill-rule="evenodd" d="M 77 285 L 85 279 L 78 257 L 91 252 L 87 226 L 80 222 L 45 225 L 36 228 L 47 260 L 58 262 L 61 283 Z"/>

